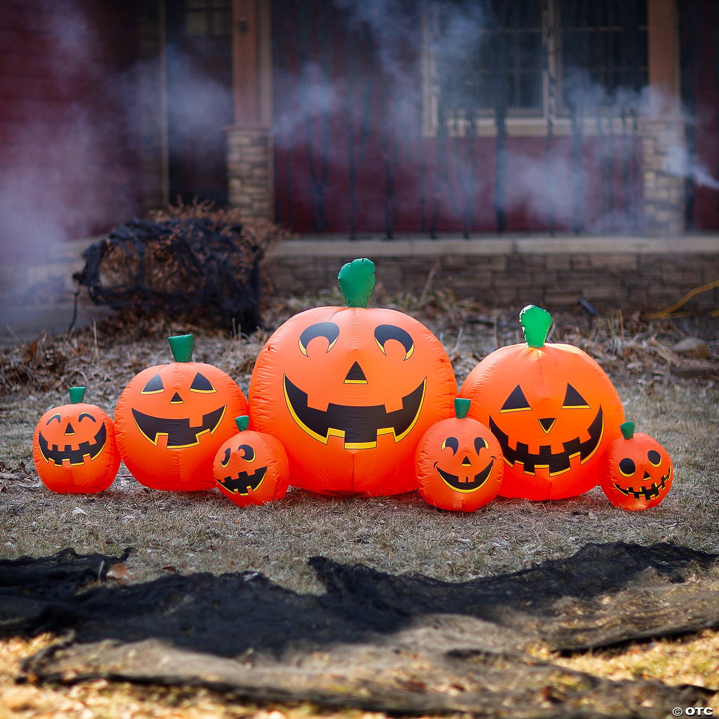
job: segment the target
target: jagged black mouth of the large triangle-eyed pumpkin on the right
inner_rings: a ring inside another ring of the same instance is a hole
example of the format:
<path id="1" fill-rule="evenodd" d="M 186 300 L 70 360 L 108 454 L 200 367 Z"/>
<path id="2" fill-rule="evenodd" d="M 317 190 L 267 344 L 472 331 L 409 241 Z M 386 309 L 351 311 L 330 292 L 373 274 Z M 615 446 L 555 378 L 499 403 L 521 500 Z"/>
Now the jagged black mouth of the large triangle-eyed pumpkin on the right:
<path id="1" fill-rule="evenodd" d="M 572 457 L 577 457 L 578 455 L 581 464 L 584 464 L 597 451 L 604 434 L 604 413 L 600 407 L 599 411 L 597 411 L 597 416 L 592 420 L 588 428 L 589 439 L 582 442 L 579 437 L 574 437 L 568 442 L 562 442 L 564 452 L 554 454 L 549 445 L 540 446 L 538 454 L 529 452 L 528 446 L 523 442 L 517 442 L 516 448 L 512 449 L 509 446 L 509 437 L 499 429 L 492 417 L 490 417 L 490 431 L 498 439 L 505 462 L 510 467 L 513 467 L 514 464 L 522 464 L 526 475 L 533 475 L 537 467 L 549 469 L 549 476 L 554 477 L 554 475 L 561 475 L 562 472 L 567 472 L 567 470 L 571 469 L 572 465 L 569 460 Z"/>

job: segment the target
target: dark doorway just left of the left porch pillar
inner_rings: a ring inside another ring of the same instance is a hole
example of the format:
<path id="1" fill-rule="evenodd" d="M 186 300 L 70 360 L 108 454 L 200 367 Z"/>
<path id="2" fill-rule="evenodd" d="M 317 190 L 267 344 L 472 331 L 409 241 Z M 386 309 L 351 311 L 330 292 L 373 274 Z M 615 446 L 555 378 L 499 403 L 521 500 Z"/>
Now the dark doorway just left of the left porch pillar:
<path id="1" fill-rule="evenodd" d="M 223 128 L 232 124 L 232 1 L 167 4 L 170 199 L 227 202 Z"/>

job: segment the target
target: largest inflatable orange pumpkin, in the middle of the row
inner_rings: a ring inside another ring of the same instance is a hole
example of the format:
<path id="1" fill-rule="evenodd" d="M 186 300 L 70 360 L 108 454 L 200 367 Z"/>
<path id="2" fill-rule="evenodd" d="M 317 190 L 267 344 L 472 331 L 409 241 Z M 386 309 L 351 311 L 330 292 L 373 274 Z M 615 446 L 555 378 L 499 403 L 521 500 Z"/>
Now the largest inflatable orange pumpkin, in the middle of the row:
<path id="1" fill-rule="evenodd" d="M 452 365 L 416 319 L 367 308 L 370 260 L 349 262 L 338 279 L 346 306 L 301 312 L 262 348 L 249 383 L 252 429 L 282 437 L 293 484 L 305 489 L 414 489 L 419 439 L 452 416 Z"/>

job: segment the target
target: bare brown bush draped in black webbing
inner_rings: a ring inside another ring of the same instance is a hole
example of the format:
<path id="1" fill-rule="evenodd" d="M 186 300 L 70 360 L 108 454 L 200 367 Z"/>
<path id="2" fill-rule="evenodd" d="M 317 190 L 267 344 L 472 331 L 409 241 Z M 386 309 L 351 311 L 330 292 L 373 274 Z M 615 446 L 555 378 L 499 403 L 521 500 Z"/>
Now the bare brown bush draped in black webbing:
<path id="1" fill-rule="evenodd" d="M 260 261 L 285 234 L 236 209 L 170 206 L 88 247 L 75 280 L 96 304 L 254 329 L 260 324 Z"/>

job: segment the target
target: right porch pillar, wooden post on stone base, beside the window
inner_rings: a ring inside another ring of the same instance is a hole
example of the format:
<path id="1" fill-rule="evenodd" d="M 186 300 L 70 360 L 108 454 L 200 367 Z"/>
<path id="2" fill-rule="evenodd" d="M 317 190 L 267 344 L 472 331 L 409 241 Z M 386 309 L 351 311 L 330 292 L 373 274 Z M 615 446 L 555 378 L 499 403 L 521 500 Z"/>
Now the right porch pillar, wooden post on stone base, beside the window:
<path id="1" fill-rule="evenodd" d="M 649 108 L 639 122 L 647 234 L 684 232 L 687 144 L 679 87 L 677 0 L 649 0 Z"/>

